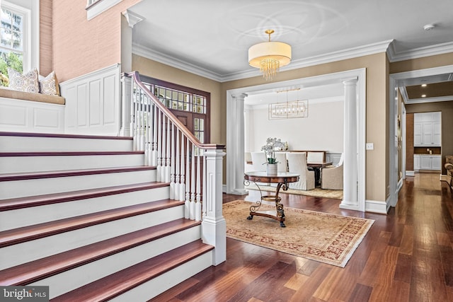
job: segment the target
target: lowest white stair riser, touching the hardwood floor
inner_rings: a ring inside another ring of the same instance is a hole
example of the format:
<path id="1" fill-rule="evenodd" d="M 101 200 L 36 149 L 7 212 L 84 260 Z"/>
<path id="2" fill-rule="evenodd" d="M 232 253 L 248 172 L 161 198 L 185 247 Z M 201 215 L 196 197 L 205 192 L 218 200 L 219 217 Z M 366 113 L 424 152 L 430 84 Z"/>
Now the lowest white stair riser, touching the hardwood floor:
<path id="1" fill-rule="evenodd" d="M 175 267 L 159 277 L 151 279 L 144 284 L 141 284 L 130 291 L 125 292 L 109 301 L 125 302 L 125 301 L 148 301 L 164 291 L 171 289 L 173 286 L 180 284 L 182 281 L 193 277 L 203 269 L 212 266 L 212 250 L 206 252 L 193 260 L 185 262 L 183 265 Z"/>

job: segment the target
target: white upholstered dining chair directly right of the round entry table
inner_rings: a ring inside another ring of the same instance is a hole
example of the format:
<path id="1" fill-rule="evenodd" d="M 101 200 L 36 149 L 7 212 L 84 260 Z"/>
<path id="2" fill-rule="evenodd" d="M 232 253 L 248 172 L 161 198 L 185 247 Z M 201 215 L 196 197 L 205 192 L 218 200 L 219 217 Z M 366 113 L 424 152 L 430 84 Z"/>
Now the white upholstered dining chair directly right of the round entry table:
<path id="1" fill-rule="evenodd" d="M 306 153 L 288 152 L 286 155 L 289 173 L 299 174 L 299 181 L 289 183 L 289 188 L 296 190 L 314 189 L 314 171 L 309 171 L 306 168 Z"/>

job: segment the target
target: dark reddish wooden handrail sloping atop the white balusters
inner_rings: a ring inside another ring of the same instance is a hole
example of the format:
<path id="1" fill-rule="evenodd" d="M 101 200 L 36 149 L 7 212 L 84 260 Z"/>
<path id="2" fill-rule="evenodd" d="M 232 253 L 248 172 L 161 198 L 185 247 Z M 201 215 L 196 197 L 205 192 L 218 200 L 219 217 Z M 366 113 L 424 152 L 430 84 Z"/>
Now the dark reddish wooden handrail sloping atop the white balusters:
<path id="1" fill-rule="evenodd" d="M 142 80 L 140 79 L 140 74 L 138 71 L 131 71 L 129 73 L 125 73 L 125 76 L 129 76 L 134 81 L 134 83 L 137 86 L 139 86 L 139 88 L 142 89 L 142 91 L 148 96 L 148 98 L 151 98 L 153 103 L 157 107 L 159 107 L 159 109 L 162 112 L 165 113 L 166 117 L 168 117 L 171 120 L 171 122 L 173 122 L 173 124 L 176 124 L 178 126 L 178 129 L 181 132 L 183 132 L 186 137 L 188 137 L 192 144 L 195 144 L 195 146 L 197 146 L 200 149 L 217 149 L 217 150 L 225 149 L 224 144 L 202 144 L 200 140 L 197 139 L 195 135 L 193 135 L 193 133 L 190 132 L 189 129 L 187 129 L 187 127 L 185 127 L 185 125 L 180 120 L 178 120 L 178 118 L 173 114 L 173 112 L 168 110 L 168 108 L 163 103 L 161 103 L 161 101 L 158 98 L 156 98 L 156 95 L 149 91 L 147 86 L 144 86 Z"/>

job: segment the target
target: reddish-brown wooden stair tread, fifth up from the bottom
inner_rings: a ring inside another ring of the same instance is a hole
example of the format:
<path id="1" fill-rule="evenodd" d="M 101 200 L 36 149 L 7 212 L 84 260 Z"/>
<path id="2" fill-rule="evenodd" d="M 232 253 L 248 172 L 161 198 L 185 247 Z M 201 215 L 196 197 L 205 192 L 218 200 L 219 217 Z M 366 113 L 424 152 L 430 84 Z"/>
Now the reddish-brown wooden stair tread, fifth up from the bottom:
<path id="1" fill-rule="evenodd" d="M 0 174 L 0 181 L 11 180 L 35 180 L 40 178 L 62 178 L 68 176 L 81 175 L 96 175 L 106 173 L 124 173 L 143 170 L 156 170 L 156 167 L 151 165 L 137 165 L 132 167 L 115 167 L 115 168 L 95 168 L 81 170 L 59 170 L 59 171 L 44 171 L 44 172 L 21 172 L 21 173 L 4 173 Z"/>

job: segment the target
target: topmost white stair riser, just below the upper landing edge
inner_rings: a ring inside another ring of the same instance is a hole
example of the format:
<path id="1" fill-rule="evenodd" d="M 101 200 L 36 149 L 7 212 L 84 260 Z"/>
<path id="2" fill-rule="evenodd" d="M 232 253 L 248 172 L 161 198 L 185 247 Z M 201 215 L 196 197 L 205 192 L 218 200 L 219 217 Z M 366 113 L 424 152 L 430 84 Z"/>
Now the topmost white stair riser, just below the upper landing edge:
<path id="1" fill-rule="evenodd" d="M 131 139 L 73 139 L 0 135 L 0 151 L 132 151 Z"/>

